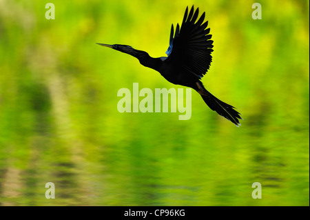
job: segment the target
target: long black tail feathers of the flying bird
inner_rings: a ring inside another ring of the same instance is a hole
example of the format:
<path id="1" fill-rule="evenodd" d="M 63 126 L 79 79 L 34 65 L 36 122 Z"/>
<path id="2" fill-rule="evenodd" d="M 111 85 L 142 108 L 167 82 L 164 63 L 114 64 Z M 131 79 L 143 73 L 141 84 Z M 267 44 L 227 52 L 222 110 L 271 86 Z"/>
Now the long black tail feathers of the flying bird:
<path id="1" fill-rule="evenodd" d="M 236 126 L 239 127 L 241 125 L 239 119 L 242 119 L 242 117 L 240 117 L 240 113 L 234 109 L 234 106 L 230 106 L 229 104 L 214 97 L 213 94 L 211 94 L 203 87 L 202 83 L 199 83 L 197 92 L 201 95 L 201 97 L 203 97 L 203 101 L 205 101 L 211 110 L 216 111 L 218 114 L 225 117 Z"/>

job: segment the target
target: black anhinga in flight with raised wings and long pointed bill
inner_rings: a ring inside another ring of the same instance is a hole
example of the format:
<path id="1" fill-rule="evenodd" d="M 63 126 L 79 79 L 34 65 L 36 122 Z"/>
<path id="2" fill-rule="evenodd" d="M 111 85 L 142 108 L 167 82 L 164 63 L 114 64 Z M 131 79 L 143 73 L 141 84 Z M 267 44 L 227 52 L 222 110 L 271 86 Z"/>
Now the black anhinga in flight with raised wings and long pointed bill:
<path id="1" fill-rule="evenodd" d="M 135 50 L 127 45 L 98 44 L 136 57 L 143 66 L 160 72 L 170 83 L 193 88 L 203 97 L 211 110 L 239 126 L 238 119 L 242 119 L 240 113 L 234 110 L 233 106 L 214 97 L 200 81 L 212 61 L 213 41 L 210 40 L 212 35 L 209 34 L 210 28 L 207 28 L 208 21 L 203 23 L 205 12 L 196 22 L 198 12 L 199 8 L 194 12 L 194 6 L 192 6 L 188 14 L 187 7 L 182 26 L 177 25 L 176 32 L 172 24 L 169 48 L 166 52 L 168 57 L 149 57 L 147 52 Z"/>

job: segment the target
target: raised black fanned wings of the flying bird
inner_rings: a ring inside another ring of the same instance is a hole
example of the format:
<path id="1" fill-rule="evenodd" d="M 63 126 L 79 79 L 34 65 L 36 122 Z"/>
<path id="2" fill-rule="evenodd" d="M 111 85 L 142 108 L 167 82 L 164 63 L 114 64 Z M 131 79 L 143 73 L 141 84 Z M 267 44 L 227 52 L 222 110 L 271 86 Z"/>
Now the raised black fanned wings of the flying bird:
<path id="1" fill-rule="evenodd" d="M 198 13 L 199 8 L 194 13 L 194 6 L 192 6 L 189 14 L 188 7 L 186 8 L 182 26 L 180 31 L 177 26 L 174 38 L 172 26 L 166 61 L 179 63 L 185 72 L 194 74 L 198 79 L 201 79 L 212 61 L 213 41 L 210 40 L 212 35 L 209 34 L 210 28 L 207 28 L 208 21 L 203 23 L 205 12 L 196 22 Z"/>

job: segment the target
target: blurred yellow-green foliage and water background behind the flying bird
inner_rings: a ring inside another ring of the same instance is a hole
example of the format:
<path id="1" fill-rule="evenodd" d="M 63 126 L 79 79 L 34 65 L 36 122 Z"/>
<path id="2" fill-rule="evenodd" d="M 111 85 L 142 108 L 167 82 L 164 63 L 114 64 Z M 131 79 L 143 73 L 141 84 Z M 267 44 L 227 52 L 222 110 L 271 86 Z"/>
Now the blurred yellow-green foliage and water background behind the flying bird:
<path id="1" fill-rule="evenodd" d="M 309 206 L 309 1 L 258 1 L 261 20 L 254 2 L 1 0 L 0 204 Z M 192 4 L 214 39 L 203 83 L 240 128 L 194 91 L 189 121 L 116 108 L 134 82 L 182 87 L 95 43 L 165 56 Z"/>

